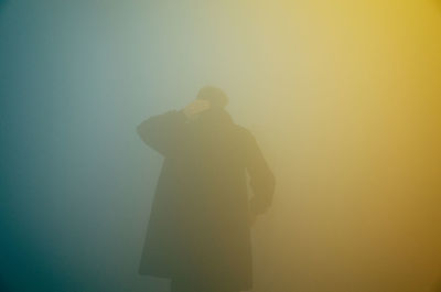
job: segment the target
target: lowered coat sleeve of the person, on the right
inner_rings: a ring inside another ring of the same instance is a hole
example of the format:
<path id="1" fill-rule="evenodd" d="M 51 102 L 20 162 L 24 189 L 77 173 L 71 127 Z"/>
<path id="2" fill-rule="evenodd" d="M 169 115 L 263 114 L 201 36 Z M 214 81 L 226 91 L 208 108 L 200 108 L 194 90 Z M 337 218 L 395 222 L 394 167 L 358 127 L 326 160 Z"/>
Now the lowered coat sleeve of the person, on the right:
<path id="1" fill-rule="evenodd" d="M 265 160 L 255 137 L 249 133 L 246 149 L 247 171 L 250 176 L 252 196 L 249 202 L 251 214 L 267 212 L 272 202 L 276 179 Z"/>

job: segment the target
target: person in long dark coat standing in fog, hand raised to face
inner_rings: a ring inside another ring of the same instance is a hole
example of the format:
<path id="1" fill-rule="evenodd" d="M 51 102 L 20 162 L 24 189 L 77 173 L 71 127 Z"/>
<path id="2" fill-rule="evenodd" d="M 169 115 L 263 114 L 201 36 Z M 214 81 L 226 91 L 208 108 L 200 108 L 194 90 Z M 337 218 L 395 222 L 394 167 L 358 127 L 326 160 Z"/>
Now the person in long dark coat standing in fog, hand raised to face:
<path id="1" fill-rule="evenodd" d="M 220 89 L 204 87 L 183 110 L 138 126 L 164 156 L 140 273 L 170 278 L 173 292 L 251 289 L 250 226 L 269 207 L 275 177 L 226 104 Z"/>

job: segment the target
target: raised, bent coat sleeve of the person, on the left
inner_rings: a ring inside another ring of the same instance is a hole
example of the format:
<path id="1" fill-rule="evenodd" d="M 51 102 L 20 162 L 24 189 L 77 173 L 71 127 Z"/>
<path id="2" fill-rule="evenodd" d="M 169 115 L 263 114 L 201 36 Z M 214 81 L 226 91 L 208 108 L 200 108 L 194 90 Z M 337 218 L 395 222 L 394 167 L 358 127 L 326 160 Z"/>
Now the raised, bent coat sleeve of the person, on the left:
<path id="1" fill-rule="evenodd" d="M 180 141 L 184 138 L 185 121 L 182 110 L 170 110 L 148 118 L 137 127 L 137 132 L 147 145 L 163 156 L 171 156 L 178 153 Z"/>

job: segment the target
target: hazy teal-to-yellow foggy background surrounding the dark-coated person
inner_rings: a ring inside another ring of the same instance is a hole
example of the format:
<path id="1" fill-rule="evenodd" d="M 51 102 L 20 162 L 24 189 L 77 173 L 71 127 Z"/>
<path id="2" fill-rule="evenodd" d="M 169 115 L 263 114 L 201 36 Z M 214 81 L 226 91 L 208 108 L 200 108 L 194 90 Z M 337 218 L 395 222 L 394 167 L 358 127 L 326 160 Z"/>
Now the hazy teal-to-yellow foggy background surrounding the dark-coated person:
<path id="1" fill-rule="evenodd" d="M 0 1 L 0 290 L 152 291 L 162 159 L 135 128 L 213 84 L 277 176 L 255 290 L 441 280 L 441 1 Z"/>

